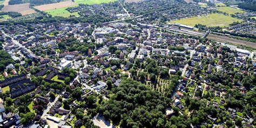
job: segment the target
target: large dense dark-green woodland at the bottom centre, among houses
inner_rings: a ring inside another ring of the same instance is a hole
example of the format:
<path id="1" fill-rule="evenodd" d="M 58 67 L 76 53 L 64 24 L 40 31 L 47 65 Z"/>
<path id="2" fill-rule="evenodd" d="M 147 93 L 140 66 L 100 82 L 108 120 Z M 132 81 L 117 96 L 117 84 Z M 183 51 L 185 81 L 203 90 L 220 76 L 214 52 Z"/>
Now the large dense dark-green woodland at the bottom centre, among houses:
<path id="1" fill-rule="evenodd" d="M 166 123 L 165 98 L 131 79 L 122 81 L 113 96 L 100 106 L 104 117 L 122 127 L 159 127 Z"/>

